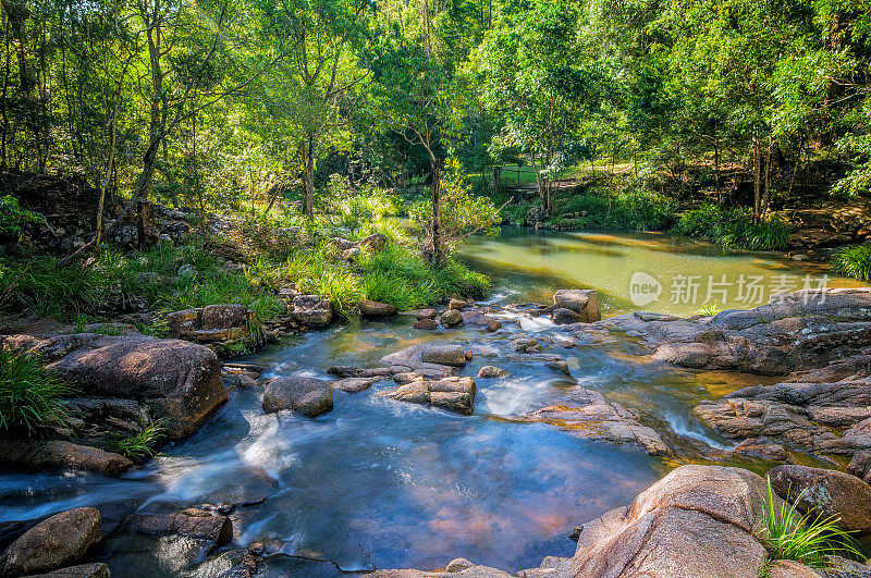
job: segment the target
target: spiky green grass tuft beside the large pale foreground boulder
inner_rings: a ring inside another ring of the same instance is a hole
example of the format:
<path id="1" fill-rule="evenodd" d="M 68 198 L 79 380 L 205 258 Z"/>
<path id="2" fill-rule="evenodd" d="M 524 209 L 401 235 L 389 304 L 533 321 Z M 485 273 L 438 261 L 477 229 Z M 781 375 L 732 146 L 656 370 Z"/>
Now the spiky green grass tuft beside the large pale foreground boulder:
<path id="1" fill-rule="evenodd" d="M 805 491 L 794 502 L 799 502 L 803 494 Z M 757 533 L 770 551 L 770 562 L 760 570 L 762 575 L 766 575 L 764 569 L 775 559 L 793 559 L 813 568 L 831 567 L 825 559 L 829 555 L 862 559 L 851 532 L 837 526 L 839 517 L 801 515 L 793 504 L 783 501 L 778 507 L 775 502 L 771 478 L 768 478 L 765 527 Z"/>

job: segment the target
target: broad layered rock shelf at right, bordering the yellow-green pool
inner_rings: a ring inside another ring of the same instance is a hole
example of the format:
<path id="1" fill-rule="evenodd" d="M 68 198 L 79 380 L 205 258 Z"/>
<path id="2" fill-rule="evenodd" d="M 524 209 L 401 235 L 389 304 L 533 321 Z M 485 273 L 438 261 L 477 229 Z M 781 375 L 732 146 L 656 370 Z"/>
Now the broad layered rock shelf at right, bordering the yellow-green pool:
<path id="1" fill-rule="evenodd" d="M 755 309 L 726 310 L 714 317 L 675 319 L 636 312 L 576 331 L 602 330 L 643 339 L 654 360 L 783 376 L 867 354 L 871 290 L 798 291 L 772 297 Z"/>

